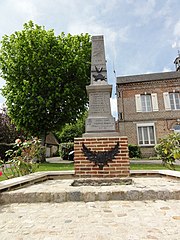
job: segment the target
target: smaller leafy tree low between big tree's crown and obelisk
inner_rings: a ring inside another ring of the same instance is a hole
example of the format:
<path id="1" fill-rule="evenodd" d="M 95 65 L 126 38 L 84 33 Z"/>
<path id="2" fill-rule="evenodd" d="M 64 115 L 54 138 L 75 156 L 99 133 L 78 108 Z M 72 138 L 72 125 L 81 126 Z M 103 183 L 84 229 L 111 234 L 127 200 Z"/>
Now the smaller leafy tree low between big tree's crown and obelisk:
<path id="1" fill-rule="evenodd" d="M 85 132 L 85 120 L 87 112 L 85 112 L 75 123 L 65 124 L 61 131 L 56 132 L 61 143 L 73 142 L 75 137 L 81 137 Z"/>

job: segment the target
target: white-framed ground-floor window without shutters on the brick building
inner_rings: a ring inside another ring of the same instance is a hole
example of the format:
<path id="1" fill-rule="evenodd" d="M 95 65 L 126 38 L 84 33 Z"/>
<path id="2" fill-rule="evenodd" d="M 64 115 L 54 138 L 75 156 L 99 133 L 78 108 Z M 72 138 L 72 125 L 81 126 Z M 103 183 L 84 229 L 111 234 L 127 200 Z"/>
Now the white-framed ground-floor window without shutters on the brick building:
<path id="1" fill-rule="evenodd" d="M 154 124 L 138 124 L 137 133 L 139 145 L 155 145 Z"/>

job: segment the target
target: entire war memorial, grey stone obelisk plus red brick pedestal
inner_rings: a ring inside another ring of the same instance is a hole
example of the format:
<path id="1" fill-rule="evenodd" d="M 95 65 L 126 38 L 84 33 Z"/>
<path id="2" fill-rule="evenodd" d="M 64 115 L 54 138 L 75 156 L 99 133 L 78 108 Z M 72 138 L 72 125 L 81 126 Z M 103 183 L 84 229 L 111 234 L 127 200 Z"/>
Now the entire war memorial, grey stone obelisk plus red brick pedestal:
<path id="1" fill-rule="evenodd" d="M 75 176 L 128 177 L 128 140 L 127 137 L 120 137 L 115 118 L 111 115 L 112 85 L 107 81 L 103 36 L 92 36 L 91 83 L 86 90 L 89 112 L 85 133 L 74 141 Z"/>

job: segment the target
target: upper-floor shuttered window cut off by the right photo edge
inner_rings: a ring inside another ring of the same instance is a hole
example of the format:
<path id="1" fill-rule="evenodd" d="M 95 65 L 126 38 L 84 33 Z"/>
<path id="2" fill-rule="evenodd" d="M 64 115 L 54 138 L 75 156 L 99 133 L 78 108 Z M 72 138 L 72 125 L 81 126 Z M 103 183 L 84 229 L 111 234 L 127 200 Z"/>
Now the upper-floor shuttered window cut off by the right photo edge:
<path id="1" fill-rule="evenodd" d="M 168 110 L 180 110 L 180 92 L 164 92 L 164 106 Z"/>

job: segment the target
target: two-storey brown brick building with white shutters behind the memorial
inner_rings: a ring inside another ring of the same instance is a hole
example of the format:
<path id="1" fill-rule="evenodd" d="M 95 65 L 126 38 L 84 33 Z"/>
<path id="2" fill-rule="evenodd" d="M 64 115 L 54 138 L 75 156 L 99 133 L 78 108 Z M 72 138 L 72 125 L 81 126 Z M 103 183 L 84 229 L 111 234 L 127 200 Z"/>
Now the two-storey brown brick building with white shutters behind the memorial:
<path id="1" fill-rule="evenodd" d="M 118 125 L 144 157 L 159 138 L 180 132 L 180 55 L 176 71 L 117 77 Z"/>

